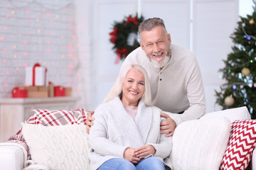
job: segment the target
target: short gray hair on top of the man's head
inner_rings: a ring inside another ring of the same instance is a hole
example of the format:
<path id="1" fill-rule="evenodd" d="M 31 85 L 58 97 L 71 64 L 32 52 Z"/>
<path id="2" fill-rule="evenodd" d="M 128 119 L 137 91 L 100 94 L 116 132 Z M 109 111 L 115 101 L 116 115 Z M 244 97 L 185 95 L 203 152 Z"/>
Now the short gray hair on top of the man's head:
<path id="1" fill-rule="evenodd" d="M 148 18 L 142 21 L 142 23 L 139 24 L 139 34 L 142 33 L 142 31 L 144 30 L 151 30 L 156 26 L 161 26 L 162 28 L 164 28 L 167 35 L 167 30 L 164 25 L 164 21 L 161 18 Z"/>

